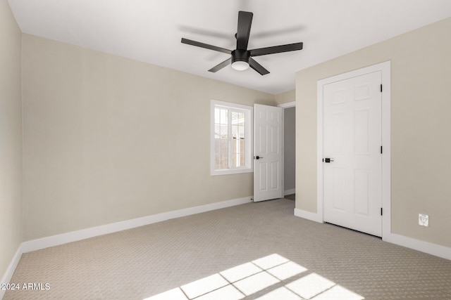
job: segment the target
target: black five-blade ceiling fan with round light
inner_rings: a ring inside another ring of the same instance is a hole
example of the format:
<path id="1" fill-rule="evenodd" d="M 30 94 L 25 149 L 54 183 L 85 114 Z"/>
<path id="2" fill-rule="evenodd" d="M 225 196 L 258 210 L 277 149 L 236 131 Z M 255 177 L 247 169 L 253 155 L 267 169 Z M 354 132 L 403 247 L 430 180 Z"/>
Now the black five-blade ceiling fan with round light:
<path id="1" fill-rule="evenodd" d="M 266 70 L 264 67 L 262 67 L 259 63 L 257 63 L 257 61 L 255 61 L 254 58 L 252 57 L 302 50 L 302 42 L 247 50 L 247 43 L 249 42 L 249 34 L 251 32 L 253 15 L 254 15 L 253 13 L 249 13 L 247 11 L 238 12 L 238 30 L 237 33 L 235 34 L 235 38 L 237 39 L 237 48 L 233 51 L 218 46 L 204 44 L 199 41 L 192 41 L 191 39 L 182 38 L 182 43 L 214 51 L 219 51 L 231 55 L 230 58 L 212 67 L 209 70 L 209 72 L 217 72 L 218 70 L 221 70 L 223 67 L 232 64 L 232 67 L 235 70 L 242 71 L 247 70 L 247 68 L 249 67 L 252 67 L 252 69 L 259 72 L 259 74 L 261 75 L 268 74 L 269 71 Z"/>

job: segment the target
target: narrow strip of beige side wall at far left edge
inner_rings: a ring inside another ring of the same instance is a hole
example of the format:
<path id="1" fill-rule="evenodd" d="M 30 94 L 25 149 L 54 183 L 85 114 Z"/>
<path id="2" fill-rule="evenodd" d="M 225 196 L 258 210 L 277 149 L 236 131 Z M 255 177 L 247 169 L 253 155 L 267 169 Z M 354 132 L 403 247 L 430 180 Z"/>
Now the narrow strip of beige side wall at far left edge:
<path id="1" fill-rule="evenodd" d="M 21 36 L 0 0 L 0 278 L 22 242 Z"/>

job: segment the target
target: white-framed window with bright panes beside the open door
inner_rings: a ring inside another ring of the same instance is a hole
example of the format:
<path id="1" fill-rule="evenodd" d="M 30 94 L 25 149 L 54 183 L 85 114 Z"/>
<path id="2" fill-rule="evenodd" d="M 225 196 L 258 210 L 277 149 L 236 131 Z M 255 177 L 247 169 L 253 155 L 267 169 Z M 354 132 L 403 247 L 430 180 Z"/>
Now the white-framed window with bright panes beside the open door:
<path id="1" fill-rule="evenodd" d="M 211 175 L 252 172 L 252 111 L 211 100 Z"/>

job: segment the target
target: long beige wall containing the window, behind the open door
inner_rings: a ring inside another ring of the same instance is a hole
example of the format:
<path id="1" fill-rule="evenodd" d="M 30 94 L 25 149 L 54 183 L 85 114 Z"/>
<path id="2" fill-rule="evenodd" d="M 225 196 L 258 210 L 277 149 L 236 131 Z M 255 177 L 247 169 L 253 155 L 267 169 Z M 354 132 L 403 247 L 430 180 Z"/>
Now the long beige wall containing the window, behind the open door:
<path id="1" fill-rule="evenodd" d="M 24 240 L 253 195 L 210 176 L 210 100 L 232 84 L 23 34 Z"/>

